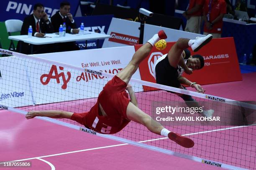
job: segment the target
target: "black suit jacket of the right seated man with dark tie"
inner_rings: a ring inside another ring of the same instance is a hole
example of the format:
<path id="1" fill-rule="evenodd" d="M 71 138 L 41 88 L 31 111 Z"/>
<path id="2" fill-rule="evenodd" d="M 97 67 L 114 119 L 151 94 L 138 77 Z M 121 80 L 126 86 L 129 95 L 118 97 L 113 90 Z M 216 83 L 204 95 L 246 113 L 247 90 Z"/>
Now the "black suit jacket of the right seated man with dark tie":
<path id="1" fill-rule="evenodd" d="M 51 17 L 51 23 L 54 27 L 54 32 L 59 32 L 59 26 L 63 25 L 63 19 L 61 15 L 59 14 L 59 11 L 57 11 L 52 17 Z M 70 33 L 71 28 L 77 28 L 76 23 L 71 23 L 68 17 L 66 17 L 66 32 Z M 70 27 L 70 28 L 69 28 Z"/>

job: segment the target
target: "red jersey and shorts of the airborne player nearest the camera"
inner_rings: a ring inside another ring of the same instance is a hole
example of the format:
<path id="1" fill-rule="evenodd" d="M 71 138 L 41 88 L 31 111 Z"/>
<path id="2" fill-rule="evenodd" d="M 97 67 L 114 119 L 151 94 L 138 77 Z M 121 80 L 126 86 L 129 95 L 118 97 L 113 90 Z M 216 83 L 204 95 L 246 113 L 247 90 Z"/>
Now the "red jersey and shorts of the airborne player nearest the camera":
<path id="1" fill-rule="evenodd" d="M 126 110 L 130 102 L 128 93 L 125 91 L 126 86 L 126 83 L 119 77 L 113 77 L 113 79 L 103 87 L 97 103 L 91 110 L 81 114 L 74 113 L 71 119 L 87 128 L 93 129 L 92 124 L 95 121 L 95 117 L 98 117 L 99 121 L 96 128 L 93 130 L 100 132 L 102 127 L 108 125 L 112 127 L 110 134 L 119 132 L 130 122 L 126 119 Z M 99 103 L 108 115 L 107 117 L 99 115 Z"/>

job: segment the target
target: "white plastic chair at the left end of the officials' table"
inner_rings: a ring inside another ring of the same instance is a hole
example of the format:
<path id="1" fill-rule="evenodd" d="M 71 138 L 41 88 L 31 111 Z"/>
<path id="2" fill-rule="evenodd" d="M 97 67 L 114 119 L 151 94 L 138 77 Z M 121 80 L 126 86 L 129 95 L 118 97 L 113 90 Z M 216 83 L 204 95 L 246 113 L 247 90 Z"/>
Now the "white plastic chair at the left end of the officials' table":
<path id="1" fill-rule="evenodd" d="M 9 34 L 9 36 L 11 36 L 12 32 L 20 31 L 21 27 L 22 27 L 22 24 L 23 24 L 23 21 L 21 21 L 21 20 L 6 20 L 5 21 L 5 27 L 6 27 L 6 30 Z M 11 40 L 11 42 L 10 42 L 9 50 L 14 50 L 15 51 L 15 45 L 13 43 L 13 40 Z"/>

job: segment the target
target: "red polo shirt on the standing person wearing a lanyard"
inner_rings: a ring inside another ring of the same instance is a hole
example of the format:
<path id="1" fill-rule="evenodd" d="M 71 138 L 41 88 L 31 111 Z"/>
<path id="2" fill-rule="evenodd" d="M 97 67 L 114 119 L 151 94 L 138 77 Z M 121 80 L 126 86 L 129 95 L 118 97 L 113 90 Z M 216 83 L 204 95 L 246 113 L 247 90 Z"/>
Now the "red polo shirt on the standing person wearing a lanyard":
<path id="1" fill-rule="evenodd" d="M 204 14 L 207 16 L 209 12 L 209 5 L 210 0 L 205 0 L 204 5 Z M 210 22 L 215 20 L 220 14 L 226 13 L 226 2 L 225 0 L 212 0 L 211 4 L 211 11 L 210 11 Z M 204 26 L 204 32 L 210 32 L 210 33 L 221 33 L 222 32 L 222 26 L 223 26 L 223 20 L 221 19 L 218 21 L 218 23 L 215 23 L 212 26 L 212 30 L 208 30 L 206 28 L 206 25 Z"/>

